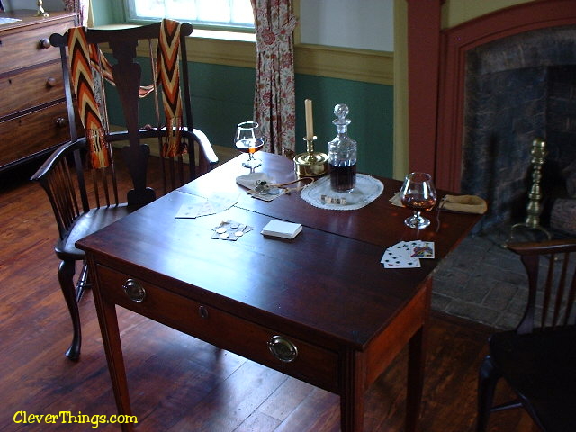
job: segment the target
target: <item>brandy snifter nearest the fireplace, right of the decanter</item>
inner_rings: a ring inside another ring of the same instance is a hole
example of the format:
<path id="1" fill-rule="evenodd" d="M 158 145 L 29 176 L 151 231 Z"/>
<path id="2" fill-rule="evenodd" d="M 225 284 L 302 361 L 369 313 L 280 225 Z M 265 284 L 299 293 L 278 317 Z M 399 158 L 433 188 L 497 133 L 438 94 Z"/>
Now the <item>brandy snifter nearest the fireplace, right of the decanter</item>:
<path id="1" fill-rule="evenodd" d="M 420 211 L 431 211 L 436 205 L 436 188 L 432 176 L 426 173 L 411 173 L 406 175 L 400 190 L 401 202 L 414 211 L 404 224 L 410 228 L 424 229 L 430 225 L 430 220 L 422 217 Z"/>

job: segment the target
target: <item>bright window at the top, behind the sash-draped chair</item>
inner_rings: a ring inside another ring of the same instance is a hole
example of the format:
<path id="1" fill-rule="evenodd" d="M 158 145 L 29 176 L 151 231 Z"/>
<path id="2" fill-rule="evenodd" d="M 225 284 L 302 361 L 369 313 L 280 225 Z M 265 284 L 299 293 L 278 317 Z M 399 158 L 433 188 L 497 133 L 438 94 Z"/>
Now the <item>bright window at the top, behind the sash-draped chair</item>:
<path id="1" fill-rule="evenodd" d="M 159 18 L 193 23 L 196 26 L 254 30 L 250 0 L 125 0 L 129 21 Z"/>

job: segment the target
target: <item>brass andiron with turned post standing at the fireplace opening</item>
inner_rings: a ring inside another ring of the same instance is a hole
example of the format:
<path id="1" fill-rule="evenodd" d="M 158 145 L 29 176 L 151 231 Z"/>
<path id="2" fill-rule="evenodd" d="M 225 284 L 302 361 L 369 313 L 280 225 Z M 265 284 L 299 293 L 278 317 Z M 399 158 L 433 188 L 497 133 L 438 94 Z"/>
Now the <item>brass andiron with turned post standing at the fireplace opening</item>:
<path id="1" fill-rule="evenodd" d="M 540 201 L 543 198 L 540 182 L 542 181 L 542 166 L 545 163 L 545 158 L 548 155 L 546 150 L 546 142 L 544 139 L 536 138 L 532 141 L 532 149 L 530 150 L 532 159 L 532 187 L 528 193 L 528 205 L 526 208 L 527 216 L 523 223 L 517 223 L 512 226 L 510 230 L 510 239 L 514 237 L 514 230 L 518 228 L 536 229 L 545 233 L 548 239 L 552 238 L 550 233 L 540 226 L 540 213 L 542 206 Z"/>

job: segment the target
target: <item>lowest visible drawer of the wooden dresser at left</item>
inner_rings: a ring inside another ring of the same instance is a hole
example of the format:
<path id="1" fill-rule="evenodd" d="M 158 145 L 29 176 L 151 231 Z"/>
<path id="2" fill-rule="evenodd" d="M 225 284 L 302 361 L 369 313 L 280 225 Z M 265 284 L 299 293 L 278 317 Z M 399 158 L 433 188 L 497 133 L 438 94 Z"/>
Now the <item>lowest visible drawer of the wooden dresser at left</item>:
<path id="1" fill-rule="evenodd" d="M 66 103 L 0 122 L 0 166 L 70 139 Z"/>

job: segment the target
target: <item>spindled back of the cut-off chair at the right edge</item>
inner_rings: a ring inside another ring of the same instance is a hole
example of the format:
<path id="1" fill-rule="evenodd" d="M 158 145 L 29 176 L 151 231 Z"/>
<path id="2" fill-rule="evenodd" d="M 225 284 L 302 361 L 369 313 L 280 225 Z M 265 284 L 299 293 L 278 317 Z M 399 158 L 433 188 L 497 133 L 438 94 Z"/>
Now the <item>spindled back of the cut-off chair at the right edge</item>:
<path id="1" fill-rule="evenodd" d="M 555 329 L 576 321 L 576 239 L 508 245 L 526 267 L 527 307 L 518 333 Z M 539 277 L 543 270 L 542 278 Z"/>

